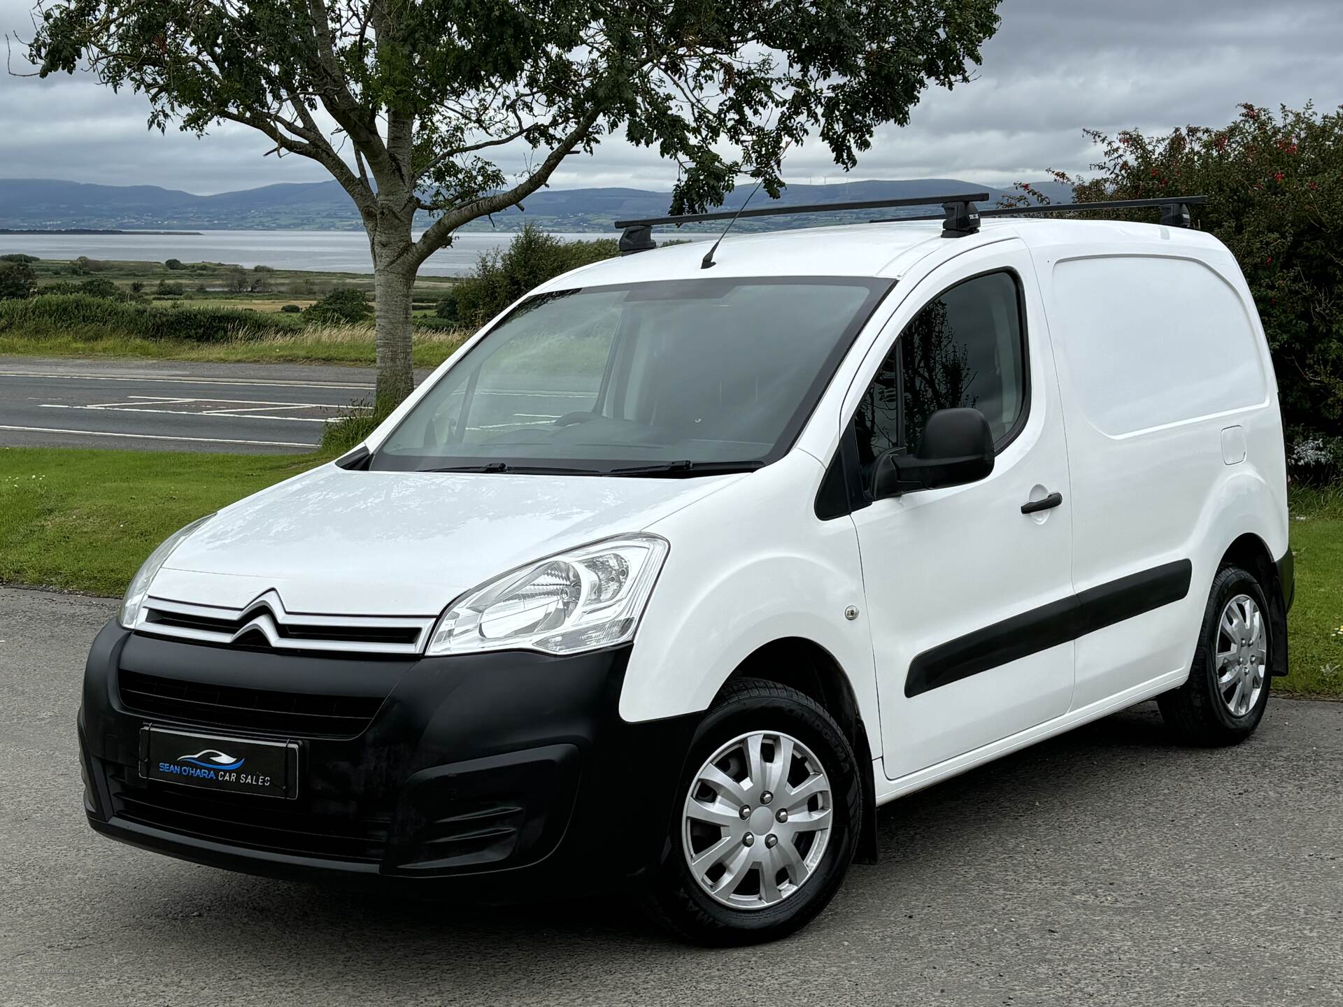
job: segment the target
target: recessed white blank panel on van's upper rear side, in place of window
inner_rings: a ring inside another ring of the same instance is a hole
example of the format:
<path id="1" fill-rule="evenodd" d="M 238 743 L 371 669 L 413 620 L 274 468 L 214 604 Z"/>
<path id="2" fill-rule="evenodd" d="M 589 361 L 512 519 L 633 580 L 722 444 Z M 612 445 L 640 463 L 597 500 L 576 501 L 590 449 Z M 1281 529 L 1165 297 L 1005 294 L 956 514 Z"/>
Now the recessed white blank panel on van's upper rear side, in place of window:
<path id="1" fill-rule="evenodd" d="M 1060 262 L 1050 329 L 1062 337 L 1082 414 L 1112 436 L 1268 397 L 1250 317 L 1236 290 L 1201 262 Z"/>

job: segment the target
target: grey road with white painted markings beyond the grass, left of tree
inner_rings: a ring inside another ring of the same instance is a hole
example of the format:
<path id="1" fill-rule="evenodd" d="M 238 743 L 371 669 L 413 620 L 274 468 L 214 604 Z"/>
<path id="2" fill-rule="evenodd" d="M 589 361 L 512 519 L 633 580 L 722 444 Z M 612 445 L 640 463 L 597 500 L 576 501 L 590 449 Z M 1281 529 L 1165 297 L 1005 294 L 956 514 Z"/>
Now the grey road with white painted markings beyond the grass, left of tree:
<path id="1" fill-rule="evenodd" d="M 372 395 L 367 368 L 0 357 L 0 444 L 294 454 Z"/>

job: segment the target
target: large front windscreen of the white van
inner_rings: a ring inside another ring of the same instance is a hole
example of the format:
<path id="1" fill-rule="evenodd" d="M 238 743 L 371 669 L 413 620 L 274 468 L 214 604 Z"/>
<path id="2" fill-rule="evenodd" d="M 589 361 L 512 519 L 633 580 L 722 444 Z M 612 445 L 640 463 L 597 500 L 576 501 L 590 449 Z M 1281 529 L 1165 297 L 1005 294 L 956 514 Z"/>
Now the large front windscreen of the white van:
<path id="1" fill-rule="evenodd" d="M 890 286 L 733 278 L 539 294 L 443 375 L 371 467 L 694 475 L 768 465 Z"/>

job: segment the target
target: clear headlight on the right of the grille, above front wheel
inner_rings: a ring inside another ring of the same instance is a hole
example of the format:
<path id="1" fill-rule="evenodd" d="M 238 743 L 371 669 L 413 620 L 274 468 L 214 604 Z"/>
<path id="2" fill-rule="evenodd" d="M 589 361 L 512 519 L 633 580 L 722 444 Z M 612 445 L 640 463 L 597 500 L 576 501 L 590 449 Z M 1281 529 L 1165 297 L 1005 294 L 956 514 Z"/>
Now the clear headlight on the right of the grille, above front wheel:
<path id="1" fill-rule="evenodd" d="M 427 653 L 577 654 L 624 643 L 666 555 L 665 538 L 631 534 L 520 567 L 457 599 L 434 627 Z"/>

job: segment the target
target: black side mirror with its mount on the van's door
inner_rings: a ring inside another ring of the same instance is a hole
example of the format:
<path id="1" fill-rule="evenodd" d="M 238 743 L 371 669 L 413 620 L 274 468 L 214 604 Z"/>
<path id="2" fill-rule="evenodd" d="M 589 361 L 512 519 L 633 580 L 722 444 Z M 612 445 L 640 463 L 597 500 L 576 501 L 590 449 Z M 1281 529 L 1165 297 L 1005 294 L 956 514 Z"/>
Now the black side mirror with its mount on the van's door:
<path id="1" fill-rule="evenodd" d="M 928 418 L 919 452 L 888 451 L 872 473 L 874 499 L 911 490 L 978 482 L 994 470 L 994 434 L 979 410 L 937 410 Z"/>

